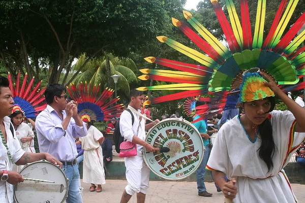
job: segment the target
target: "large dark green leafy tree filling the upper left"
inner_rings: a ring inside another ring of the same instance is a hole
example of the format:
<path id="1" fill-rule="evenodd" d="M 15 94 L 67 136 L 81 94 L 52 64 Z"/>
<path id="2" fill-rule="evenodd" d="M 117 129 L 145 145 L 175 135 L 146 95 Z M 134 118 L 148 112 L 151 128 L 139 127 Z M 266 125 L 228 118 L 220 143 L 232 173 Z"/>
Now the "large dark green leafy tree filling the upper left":
<path id="1" fill-rule="evenodd" d="M 69 84 L 103 52 L 127 56 L 148 46 L 165 17 L 159 0 L 1 1 L 0 61 L 13 77 L 20 70 L 38 82 L 47 67 L 50 83 Z M 72 72 L 74 58 L 83 53 L 87 59 Z"/>

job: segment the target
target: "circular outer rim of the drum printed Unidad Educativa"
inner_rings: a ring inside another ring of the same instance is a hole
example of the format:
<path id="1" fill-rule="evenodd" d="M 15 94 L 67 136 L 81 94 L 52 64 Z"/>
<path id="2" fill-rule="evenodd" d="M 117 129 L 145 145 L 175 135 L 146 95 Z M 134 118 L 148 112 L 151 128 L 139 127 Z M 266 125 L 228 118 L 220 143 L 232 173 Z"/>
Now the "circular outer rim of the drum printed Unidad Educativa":
<path id="1" fill-rule="evenodd" d="M 164 120 L 160 121 L 159 123 L 157 123 L 157 125 L 159 125 L 160 123 L 169 121 L 169 120 L 176 120 L 176 121 L 185 122 L 185 123 L 187 123 L 187 124 L 190 124 L 191 127 L 193 127 L 194 130 L 198 133 L 198 136 L 201 138 L 199 130 L 198 130 L 191 122 L 189 122 L 189 121 L 187 121 L 187 120 L 185 120 L 185 119 L 183 119 L 183 118 L 167 118 L 167 119 L 164 119 Z M 156 127 L 157 125 L 155 125 L 154 127 L 151 127 L 151 128 L 148 130 L 147 134 L 149 134 L 151 130 L 155 129 L 155 127 Z M 146 134 L 145 139 L 144 139 L 145 142 L 146 142 L 147 134 Z M 150 171 L 153 172 L 155 175 L 157 175 L 157 176 L 160 177 L 160 178 L 163 178 L 163 179 L 165 179 L 165 180 L 171 180 L 171 181 L 185 179 L 185 178 L 191 176 L 194 172 L 196 172 L 197 168 L 200 166 L 200 164 L 201 164 L 201 162 L 202 162 L 202 160 L 203 160 L 204 145 L 203 145 L 203 140 L 202 140 L 202 139 L 199 139 L 199 140 L 201 141 L 201 144 L 202 144 L 202 153 L 203 153 L 202 156 L 201 156 L 201 158 L 200 158 L 200 160 L 199 160 L 199 164 L 194 168 L 194 170 L 193 170 L 192 173 L 190 173 L 190 174 L 188 174 L 188 175 L 186 175 L 186 176 L 184 176 L 184 177 L 167 178 L 167 177 L 161 176 L 160 174 L 158 174 L 157 172 L 155 172 L 155 170 L 153 170 L 153 168 L 150 167 L 150 165 L 148 164 L 148 162 L 147 162 L 147 160 L 146 160 L 146 155 L 145 155 L 146 153 L 144 153 L 144 152 L 145 152 L 145 147 L 143 147 L 143 159 L 144 159 L 144 162 L 145 162 L 146 165 L 149 167 Z"/>

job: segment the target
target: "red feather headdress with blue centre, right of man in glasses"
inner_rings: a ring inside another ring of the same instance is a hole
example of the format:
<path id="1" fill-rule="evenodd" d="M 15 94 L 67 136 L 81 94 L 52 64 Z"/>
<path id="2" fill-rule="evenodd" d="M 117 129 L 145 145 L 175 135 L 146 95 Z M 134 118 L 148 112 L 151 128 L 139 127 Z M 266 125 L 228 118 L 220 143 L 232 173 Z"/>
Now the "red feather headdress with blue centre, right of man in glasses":
<path id="1" fill-rule="evenodd" d="M 85 122 L 91 120 L 109 121 L 113 117 L 119 117 L 123 111 L 123 104 L 116 104 L 119 98 L 109 99 L 114 90 L 106 88 L 98 97 L 101 84 L 92 85 L 85 82 L 78 85 L 71 84 L 67 87 L 73 100 L 78 103 L 78 115 Z"/>

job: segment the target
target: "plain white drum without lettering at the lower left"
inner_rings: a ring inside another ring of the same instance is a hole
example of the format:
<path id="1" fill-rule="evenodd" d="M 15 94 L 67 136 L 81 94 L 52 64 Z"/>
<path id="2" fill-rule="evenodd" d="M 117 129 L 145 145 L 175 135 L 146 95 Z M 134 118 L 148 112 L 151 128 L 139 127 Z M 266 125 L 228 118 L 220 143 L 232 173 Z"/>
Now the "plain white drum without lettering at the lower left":
<path id="1" fill-rule="evenodd" d="M 24 178 L 33 178 L 55 183 L 24 180 L 14 187 L 14 197 L 17 203 L 58 203 L 64 202 L 68 196 L 68 178 L 63 170 L 46 160 L 26 164 L 20 174 Z"/>

